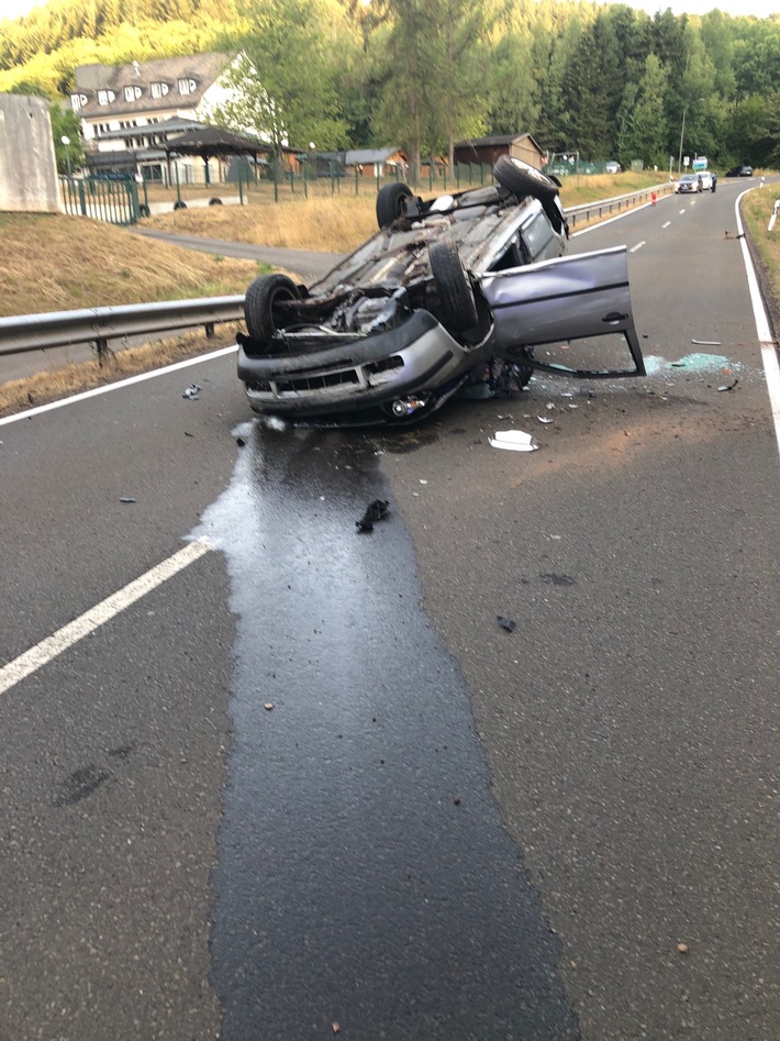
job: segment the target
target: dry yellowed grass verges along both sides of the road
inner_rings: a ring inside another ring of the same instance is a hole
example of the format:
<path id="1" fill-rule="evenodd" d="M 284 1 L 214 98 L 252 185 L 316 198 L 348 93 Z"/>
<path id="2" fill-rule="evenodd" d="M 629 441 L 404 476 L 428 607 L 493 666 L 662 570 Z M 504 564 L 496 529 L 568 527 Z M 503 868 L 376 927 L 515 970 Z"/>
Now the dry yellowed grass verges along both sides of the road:
<path id="1" fill-rule="evenodd" d="M 564 181 L 561 198 L 572 207 L 660 180 L 655 173 L 572 177 Z M 767 231 L 775 199 L 771 187 L 750 191 L 743 213 L 765 272 L 765 294 L 780 300 L 780 229 Z M 209 239 L 344 253 L 374 233 L 375 204 L 376 197 L 368 193 L 298 197 L 270 204 L 192 207 L 143 224 Z M 180 250 L 129 229 L 54 214 L 0 213 L 0 315 L 237 294 L 258 273 L 249 261 Z M 780 317 L 777 307 L 771 310 Z M 7 383 L 0 356 L 0 416 L 207 353 L 234 342 L 234 332 L 224 326 L 218 337 L 177 336 L 119 352 L 102 365 L 87 362 Z"/>

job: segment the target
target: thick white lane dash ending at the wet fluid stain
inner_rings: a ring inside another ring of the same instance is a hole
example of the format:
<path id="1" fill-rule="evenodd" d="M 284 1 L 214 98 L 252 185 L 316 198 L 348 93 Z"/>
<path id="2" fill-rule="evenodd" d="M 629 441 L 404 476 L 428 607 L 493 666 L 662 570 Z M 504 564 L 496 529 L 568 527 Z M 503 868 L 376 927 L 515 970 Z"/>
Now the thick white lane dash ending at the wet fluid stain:
<path id="1" fill-rule="evenodd" d="M 0 668 L 0 694 L 4 694 L 15 684 L 20 683 L 26 676 L 37 672 L 38 668 L 52 662 L 63 651 L 67 651 L 79 640 L 82 640 L 89 633 L 94 632 L 100 625 L 111 621 L 116 614 L 125 610 L 136 600 L 146 596 L 164 582 L 172 578 L 174 575 L 183 571 L 194 561 L 203 556 L 212 549 L 211 543 L 205 539 L 199 539 L 197 542 L 190 542 L 183 549 L 179 550 L 167 561 L 163 561 L 156 567 L 153 567 L 140 578 L 134 579 L 123 589 L 113 593 L 110 597 L 96 603 L 94 607 L 85 611 L 79 618 L 63 625 L 51 636 L 42 640 L 34 647 L 30 647 L 19 657 L 15 657 L 8 665 Z"/>

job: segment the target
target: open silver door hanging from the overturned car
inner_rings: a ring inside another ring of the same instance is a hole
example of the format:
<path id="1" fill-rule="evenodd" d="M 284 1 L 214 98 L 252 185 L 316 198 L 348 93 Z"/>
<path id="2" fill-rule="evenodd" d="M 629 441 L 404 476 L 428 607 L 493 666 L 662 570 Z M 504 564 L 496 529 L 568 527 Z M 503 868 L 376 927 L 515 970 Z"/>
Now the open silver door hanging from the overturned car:
<path id="1" fill-rule="evenodd" d="M 510 268 L 478 279 L 498 355 L 534 351 L 537 368 L 590 377 L 644 376 L 625 246 Z"/>

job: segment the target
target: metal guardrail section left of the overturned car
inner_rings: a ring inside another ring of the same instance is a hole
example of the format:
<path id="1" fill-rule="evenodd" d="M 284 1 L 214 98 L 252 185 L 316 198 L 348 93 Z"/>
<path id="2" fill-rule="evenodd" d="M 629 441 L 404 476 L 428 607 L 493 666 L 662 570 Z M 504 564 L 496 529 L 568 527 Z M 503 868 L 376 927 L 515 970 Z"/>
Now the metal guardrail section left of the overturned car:
<path id="1" fill-rule="evenodd" d="M 19 314 L 0 318 L 0 356 L 40 351 L 42 347 L 93 343 L 100 357 L 108 351 L 110 340 L 201 325 L 207 335 L 212 335 L 214 325 L 234 322 L 243 317 L 243 296 Z"/>

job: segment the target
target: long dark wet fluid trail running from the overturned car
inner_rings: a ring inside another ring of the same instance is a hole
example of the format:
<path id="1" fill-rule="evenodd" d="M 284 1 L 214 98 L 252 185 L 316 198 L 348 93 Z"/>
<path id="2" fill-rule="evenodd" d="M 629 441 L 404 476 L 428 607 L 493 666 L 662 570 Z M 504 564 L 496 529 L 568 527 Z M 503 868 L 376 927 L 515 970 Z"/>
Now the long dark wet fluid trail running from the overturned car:
<path id="1" fill-rule="evenodd" d="M 377 498 L 390 516 L 358 533 Z M 255 427 L 196 534 L 237 618 L 221 1037 L 578 1038 L 375 445 Z"/>

